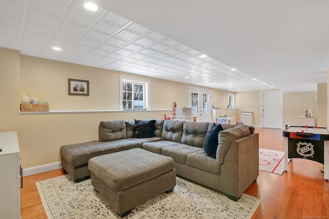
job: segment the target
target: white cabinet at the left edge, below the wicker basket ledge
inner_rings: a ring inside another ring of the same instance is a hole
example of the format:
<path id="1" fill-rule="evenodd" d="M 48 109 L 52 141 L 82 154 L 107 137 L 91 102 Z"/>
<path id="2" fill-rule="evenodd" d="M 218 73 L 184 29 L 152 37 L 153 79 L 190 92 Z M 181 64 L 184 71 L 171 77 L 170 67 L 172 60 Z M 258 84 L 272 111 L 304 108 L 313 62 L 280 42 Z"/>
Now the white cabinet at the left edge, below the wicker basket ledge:
<path id="1" fill-rule="evenodd" d="M 20 148 L 17 133 L 0 132 L 1 218 L 21 218 Z"/>

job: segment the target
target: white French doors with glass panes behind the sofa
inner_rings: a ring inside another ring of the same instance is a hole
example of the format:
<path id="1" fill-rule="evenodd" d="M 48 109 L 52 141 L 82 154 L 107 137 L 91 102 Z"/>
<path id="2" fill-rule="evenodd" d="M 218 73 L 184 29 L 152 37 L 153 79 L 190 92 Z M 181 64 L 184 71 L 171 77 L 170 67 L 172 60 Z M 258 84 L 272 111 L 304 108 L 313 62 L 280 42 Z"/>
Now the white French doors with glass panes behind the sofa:
<path id="1" fill-rule="evenodd" d="M 196 122 L 211 122 L 211 91 L 189 88 L 188 98 Z"/>

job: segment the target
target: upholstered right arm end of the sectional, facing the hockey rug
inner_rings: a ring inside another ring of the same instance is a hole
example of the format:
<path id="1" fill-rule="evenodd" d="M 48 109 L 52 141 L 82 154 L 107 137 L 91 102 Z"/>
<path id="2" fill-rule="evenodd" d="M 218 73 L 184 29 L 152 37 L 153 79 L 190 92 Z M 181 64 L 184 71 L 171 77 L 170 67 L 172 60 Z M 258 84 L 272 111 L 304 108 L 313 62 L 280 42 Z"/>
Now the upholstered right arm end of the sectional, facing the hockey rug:
<path id="1" fill-rule="evenodd" d="M 221 191 L 233 200 L 259 175 L 259 135 L 253 133 L 232 142 L 221 165 Z"/>

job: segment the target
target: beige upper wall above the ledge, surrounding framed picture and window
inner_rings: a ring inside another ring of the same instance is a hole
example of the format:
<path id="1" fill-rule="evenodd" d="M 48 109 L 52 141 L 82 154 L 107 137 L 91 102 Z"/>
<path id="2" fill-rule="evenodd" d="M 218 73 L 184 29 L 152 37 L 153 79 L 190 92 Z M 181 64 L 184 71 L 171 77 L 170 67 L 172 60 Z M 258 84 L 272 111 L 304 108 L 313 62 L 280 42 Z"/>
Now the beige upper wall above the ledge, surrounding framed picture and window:
<path id="1" fill-rule="evenodd" d="M 150 80 L 151 109 L 172 109 L 174 101 L 187 105 L 188 84 L 25 55 L 21 56 L 20 94 L 40 102 L 48 99 L 50 110 L 118 110 L 120 75 Z M 89 96 L 68 95 L 68 78 L 89 81 Z"/>

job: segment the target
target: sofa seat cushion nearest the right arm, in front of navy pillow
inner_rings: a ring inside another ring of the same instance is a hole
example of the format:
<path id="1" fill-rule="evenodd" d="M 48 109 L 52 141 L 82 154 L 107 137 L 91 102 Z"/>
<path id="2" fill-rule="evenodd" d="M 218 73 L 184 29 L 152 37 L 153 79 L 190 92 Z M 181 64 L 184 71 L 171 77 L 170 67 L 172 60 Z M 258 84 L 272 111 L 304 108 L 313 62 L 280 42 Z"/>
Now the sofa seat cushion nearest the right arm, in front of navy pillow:
<path id="1" fill-rule="evenodd" d="M 216 175 L 221 175 L 221 165 L 215 158 L 207 156 L 202 150 L 189 153 L 186 158 L 186 164 Z"/>

